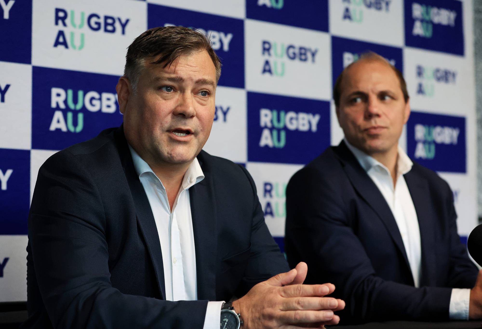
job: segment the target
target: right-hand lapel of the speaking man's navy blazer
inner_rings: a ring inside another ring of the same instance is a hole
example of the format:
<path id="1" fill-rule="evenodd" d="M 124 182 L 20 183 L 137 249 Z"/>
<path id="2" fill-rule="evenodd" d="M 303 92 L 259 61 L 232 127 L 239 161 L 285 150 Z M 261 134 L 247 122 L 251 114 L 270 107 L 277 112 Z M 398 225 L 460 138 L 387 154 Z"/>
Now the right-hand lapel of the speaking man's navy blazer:
<path id="1" fill-rule="evenodd" d="M 216 207 L 213 177 L 202 166 L 204 179 L 189 188 L 192 227 L 196 246 L 198 300 L 216 300 Z"/>

